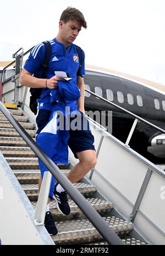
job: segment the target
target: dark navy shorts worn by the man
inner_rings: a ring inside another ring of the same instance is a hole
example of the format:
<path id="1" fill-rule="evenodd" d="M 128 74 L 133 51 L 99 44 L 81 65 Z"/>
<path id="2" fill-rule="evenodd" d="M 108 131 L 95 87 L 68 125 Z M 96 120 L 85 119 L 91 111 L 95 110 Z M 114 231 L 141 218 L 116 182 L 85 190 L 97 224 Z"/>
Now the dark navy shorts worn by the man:
<path id="1" fill-rule="evenodd" d="M 86 116 L 78 111 L 78 115 L 70 116 L 70 129 L 69 129 L 69 140 L 68 140 L 68 146 L 70 147 L 70 150 L 74 153 L 75 158 L 78 158 L 76 153 L 85 151 L 85 150 L 95 150 L 94 146 L 94 136 L 91 133 L 89 121 L 87 120 Z M 43 127 L 46 126 L 46 124 L 49 121 L 49 118 L 51 116 L 50 110 L 40 109 L 36 118 L 36 123 L 38 126 L 37 134 L 40 133 L 40 131 L 43 129 Z M 73 122 L 76 119 L 76 127 L 72 126 Z M 76 129 L 75 129 L 76 128 Z M 44 150 L 43 150 L 44 151 Z M 38 159 L 39 165 L 43 165 L 40 159 Z M 42 169 L 42 168 L 41 168 Z M 41 171 L 42 179 L 44 172 L 47 171 L 43 170 Z M 53 191 L 54 191 L 54 185 L 55 185 L 55 178 L 52 177 L 51 182 L 51 188 L 50 188 L 50 194 L 49 197 L 53 198 Z"/>

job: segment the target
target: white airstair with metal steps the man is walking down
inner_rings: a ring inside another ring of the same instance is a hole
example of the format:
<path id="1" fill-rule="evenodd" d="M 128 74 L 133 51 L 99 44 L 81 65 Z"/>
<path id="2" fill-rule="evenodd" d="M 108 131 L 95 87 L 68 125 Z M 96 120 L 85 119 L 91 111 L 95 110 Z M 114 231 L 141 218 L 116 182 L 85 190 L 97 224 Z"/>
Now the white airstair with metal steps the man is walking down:
<path id="1" fill-rule="evenodd" d="M 23 57 L 22 52 L 20 56 Z M 12 79 L 17 80 L 18 77 Z M 5 95 L 7 99 L 5 102 L 12 104 L 14 99 L 14 103 L 17 103 L 17 107 L 9 108 L 9 112 L 35 141 L 35 117 L 29 110 L 27 88 L 19 87 L 18 92 L 18 83 L 15 88 L 12 79 L 7 81 L 4 79 L 2 96 Z M 9 89 L 11 87 L 12 89 Z M 36 224 L 35 210 L 40 177 L 38 158 L 29 143 L 10 123 L 7 115 L 4 115 L 4 112 L 8 113 L 8 111 L 4 110 L 4 107 L 1 110 L 0 238 L 2 244 L 108 244 L 105 237 L 92 225 L 92 216 L 89 220 L 83 209 L 80 210 L 78 207 L 78 202 L 76 204 L 71 196 L 69 196 L 71 212 L 68 216 L 58 212 L 55 200 L 50 203 L 50 210 L 58 229 L 57 236 L 50 236 L 43 225 Z M 131 150 L 128 141 L 127 145 L 124 145 L 99 124 L 89 121 L 95 136 L 97 165 L 86 177 L 73 184 L 74 187 L 124 244 L 164 244 L 165 226 L 162 221 L 165 207 L 161 198 L 161 189 L 165 185 L 163 171 Z M 69 153 L 69 159 L 68 166 L 58 166 L 64 175 L 77 162 L 72 152 Z M 5 217 L 8 217 L 8 224 L 4 225 Z M 28 220 L 25 221 L 25 218 Z M 13 238 L 8 236 L 10 227 L 14 228 Z M 20 232 L 26 233 L 26 239 L 21 237 Z"/>

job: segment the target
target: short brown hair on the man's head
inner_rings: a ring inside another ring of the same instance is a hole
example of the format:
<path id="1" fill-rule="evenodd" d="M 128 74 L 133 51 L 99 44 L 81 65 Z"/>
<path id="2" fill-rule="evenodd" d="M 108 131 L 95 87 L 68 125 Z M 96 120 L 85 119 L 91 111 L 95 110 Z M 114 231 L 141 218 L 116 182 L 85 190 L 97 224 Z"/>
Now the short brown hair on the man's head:
<path id="1" fill-rule="evenodd" d="M 63 20 L 64 23 L 67 23 L 70 19 L 78 20 L 78 22 L 80 22 L 80 24 L 81 24 L 81 26 L 83 26 L 83 28 L 85 28 L 85 29 L 87 28 L 87 24 L 86 24 L 84 15 L 83 15 L 83 13 L 80 12 L 80 10 L 78 10 L 76 8 L 72 8 L 72 7 L 68 7 L 67 9 L 65 9 L 63 11 L 63 13 L 61 14 L 60 20 Z"/>

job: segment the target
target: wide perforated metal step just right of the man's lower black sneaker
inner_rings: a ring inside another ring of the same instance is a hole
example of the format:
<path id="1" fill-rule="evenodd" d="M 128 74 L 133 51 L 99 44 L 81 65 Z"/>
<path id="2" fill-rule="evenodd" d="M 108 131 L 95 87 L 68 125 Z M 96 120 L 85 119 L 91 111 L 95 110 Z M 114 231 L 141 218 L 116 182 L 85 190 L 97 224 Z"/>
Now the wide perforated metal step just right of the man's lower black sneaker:
<path id="1" fill-rule="evenodd" d="M 124 234 L 133 230 L 133 223 L 111 216 L 103 220 L 117 233 Z M 84 244 L 103 241 L 103 237 L 87 219 L 56 222 L 57 236 L 52 236 L 56 245 Z"/>

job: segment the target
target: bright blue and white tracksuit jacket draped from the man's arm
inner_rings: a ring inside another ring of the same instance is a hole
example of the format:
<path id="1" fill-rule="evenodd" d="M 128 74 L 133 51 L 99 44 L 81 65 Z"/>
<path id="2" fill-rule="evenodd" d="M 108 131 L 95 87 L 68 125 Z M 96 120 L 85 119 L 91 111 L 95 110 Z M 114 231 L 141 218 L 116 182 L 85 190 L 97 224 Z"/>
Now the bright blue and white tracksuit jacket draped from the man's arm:
<path id="1" fill-rule="evenodd" d="M 80 89 L 70 81 L 58 81 L 58 88 L 51 90 L 52 114 L 48 124 L 37 135 L 38 146 L 52 159 L 54 163 L 68 164 L 68 124 L 65 107 L 67 102 L 75 101 L 80 98 Z M 46 166 L 38 159 L 41 175 L 47 171 Z M 50 198 L 53 197 L 55 179 L 52 177 Z"/>

